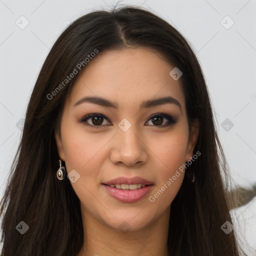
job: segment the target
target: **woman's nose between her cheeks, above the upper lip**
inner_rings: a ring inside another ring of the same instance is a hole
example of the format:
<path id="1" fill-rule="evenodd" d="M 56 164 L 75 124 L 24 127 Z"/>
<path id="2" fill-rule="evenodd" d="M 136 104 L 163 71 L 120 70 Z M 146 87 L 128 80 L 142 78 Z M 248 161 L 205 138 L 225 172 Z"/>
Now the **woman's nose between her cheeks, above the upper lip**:
<path id="1" fill-rule="evenodd" d="M 136 164 L 137 166 L 146 162 L 148 158 L 146 144 L 143 142 L 142 135 L 132 127 L 133 125 L 126 131 L 117 130 L 110 152 L 110 160 L 113 164 L 126 166 Z"/>

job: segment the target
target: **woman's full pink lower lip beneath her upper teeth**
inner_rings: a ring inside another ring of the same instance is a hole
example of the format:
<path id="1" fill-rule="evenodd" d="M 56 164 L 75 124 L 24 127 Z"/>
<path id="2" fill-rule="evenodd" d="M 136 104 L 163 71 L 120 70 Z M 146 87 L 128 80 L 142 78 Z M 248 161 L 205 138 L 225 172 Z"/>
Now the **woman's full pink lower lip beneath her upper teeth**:
<path id="1" fill-rule="evenodd" d="M 135 190 L 118 189 L 104 184 L 103 186 L 112 197 L 121 202 L 136 202 L 146 196 L 153 185 L 147 185 Z"/>

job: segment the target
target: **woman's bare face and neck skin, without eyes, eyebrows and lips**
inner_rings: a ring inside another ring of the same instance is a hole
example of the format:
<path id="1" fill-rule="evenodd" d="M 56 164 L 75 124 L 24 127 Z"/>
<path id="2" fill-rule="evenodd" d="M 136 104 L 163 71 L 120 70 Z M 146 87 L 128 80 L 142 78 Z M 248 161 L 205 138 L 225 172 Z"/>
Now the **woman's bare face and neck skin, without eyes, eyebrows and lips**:
<path id="1" fill-rule="evenodd" d="M 169 210 L 184 172 L 154 202 L 148 197 L 192 157 L 198 136 L 197 121 L 189 134 L 184 94 L 180 79 L 169 75 L 172 69 L 154 50 L 137 47 L 98 53 L 79 73 L 64 104 L 61 135 L 55 133 L 67 172 L 75 169 L 80 175 L 71 183 L 80 199 L 85 234 L 77 256 L 167 255 Z M 139 110 L 143 100 L 167 95 L 178 100 L 181 109 L 166 103 Z M 73 106 L 84 96 L 104 97 L 117 102 L 119 108 L 90 102 Z M 79 122 L 89 113 L 108 119 L 98 126 L 85 124 L 93 125 L 95 118 Z M 168 123 L 163 117 L 157 125 L 151 119 L 157 113 L 177 122 L 163 127 Z M 123 118 L 131 123 L 127 131 L 118 126 Z M 151 180 L 152 190 L 137 202 L 120 202 L 101 184 L 118 176 Z M 118 228 L 123 221 L 130 228 L 127 232 Z"/>

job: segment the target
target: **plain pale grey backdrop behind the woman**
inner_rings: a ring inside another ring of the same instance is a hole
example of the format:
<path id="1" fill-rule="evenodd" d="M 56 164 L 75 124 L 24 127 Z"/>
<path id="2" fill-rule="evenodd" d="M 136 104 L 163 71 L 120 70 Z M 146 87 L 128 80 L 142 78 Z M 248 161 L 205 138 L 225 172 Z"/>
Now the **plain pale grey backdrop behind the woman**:
<path id="1" fill-rule="evenodd" d="M 0 196 L 20 139 L 20 119 L 50 47 L 75 18 L 116 2 L 0 0 Z M 256 182 L 255 0 L 120 3 L 142 5 L 188 39 L 206 78 L 231 175 L 236 184 L 250 187 Z M 231 212 L 241 242 L 255 250 L 256 197 Z"/>

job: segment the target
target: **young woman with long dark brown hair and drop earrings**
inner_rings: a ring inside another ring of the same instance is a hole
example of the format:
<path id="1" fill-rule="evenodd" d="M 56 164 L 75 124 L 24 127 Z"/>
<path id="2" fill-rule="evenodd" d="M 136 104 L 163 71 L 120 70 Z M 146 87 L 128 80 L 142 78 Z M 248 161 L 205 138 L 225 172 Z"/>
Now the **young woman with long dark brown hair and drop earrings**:
<path id="1" fill-rule="evenodd" d="M 52 46 L 1 202 L 2 256 L 239 255 L 224 155 L 185 38 L 136 7 Z"/>

